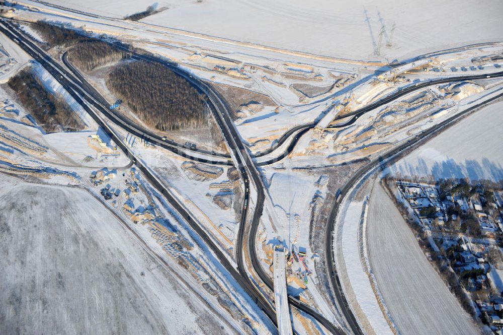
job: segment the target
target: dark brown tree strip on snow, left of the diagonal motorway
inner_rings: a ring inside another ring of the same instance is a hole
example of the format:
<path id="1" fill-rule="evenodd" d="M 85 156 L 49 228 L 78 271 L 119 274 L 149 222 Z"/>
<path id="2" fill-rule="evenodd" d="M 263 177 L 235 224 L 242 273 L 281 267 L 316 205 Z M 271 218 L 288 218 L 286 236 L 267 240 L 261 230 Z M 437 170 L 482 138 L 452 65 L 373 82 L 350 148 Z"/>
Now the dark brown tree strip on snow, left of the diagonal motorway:
<path id="1" fill-rule="evenodd" d="M 62 98 L 47 92 L 31 68 L 25 68 L 8 82 L 21 104 L 46 132 L 75 131 L 84 124 Z"/>

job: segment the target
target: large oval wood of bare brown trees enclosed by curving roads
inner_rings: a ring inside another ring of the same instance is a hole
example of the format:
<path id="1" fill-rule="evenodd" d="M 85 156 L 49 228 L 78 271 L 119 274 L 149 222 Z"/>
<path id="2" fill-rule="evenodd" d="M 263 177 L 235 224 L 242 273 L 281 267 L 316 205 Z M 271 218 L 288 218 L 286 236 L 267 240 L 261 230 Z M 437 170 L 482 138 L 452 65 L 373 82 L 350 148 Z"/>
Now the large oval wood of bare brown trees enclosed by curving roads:
<path id="1" fill-rule="evenodd" d="M 112 69 L 106 83 L 150 127 L 168 131 L 208 126 L 201 95 L 187 80 L 161 64 L 120 63 Z"/>

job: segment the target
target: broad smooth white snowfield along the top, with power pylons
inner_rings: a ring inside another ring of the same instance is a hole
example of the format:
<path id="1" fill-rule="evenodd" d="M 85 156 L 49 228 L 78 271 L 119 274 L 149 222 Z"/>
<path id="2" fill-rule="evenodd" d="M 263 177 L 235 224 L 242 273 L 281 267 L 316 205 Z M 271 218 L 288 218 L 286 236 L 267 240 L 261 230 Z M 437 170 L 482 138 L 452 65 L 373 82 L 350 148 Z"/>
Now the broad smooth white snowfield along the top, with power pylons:
<path id="1" fill-rule="evenodd" d="M 133 0 L 48 2 L 116 18 L 152 5 L 152 2 Z M 378 59 L 374 54 L 374 43 L 379 46 L 380 35 L 380 52 L 389 60 L 412 55 L 411 52 L 415 55 L 418 51 L 445 49 L 480 42 L 481 39 L 495 41 L 503 37 L 500 24 L 503 4 L 497 0 L 463 3 L 454 0 L 380 3 L 371 0 L 346 3 L 330 0 L 279 0 L 273 3 L 265 0 L 175 0 L 156 4 L 159 8 L 169 9 L 141 22 L 234 41 L 347 58 Z M 381 34 L 383 25 L 385 28 Z"/>

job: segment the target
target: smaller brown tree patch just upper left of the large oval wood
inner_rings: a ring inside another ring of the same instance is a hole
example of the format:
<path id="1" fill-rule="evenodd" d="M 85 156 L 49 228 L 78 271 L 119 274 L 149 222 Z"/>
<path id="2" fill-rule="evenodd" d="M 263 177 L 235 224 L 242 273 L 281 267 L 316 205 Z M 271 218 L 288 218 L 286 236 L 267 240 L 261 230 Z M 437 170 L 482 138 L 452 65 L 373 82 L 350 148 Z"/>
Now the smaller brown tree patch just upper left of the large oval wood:
<path id="1" fill-rule="evenodd" d="M 126 54 L 110 43 L 102 41 L 83 41 L 68 52 L 68 60 L 78 69 L 90 72 L 99 66 L 119 61 Z"/>

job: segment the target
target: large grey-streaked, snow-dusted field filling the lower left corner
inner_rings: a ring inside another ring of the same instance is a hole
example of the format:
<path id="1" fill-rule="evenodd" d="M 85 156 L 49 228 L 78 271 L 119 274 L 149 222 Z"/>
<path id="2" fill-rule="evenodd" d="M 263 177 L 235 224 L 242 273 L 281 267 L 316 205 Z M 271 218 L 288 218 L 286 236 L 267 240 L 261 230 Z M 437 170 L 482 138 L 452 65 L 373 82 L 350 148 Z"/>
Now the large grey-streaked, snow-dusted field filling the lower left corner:
<path id="1" fill-rule="evenodd" d="M 236 332 L 88 192 L 0 178 L 0 333 Z"/>

